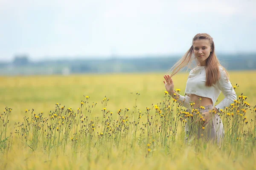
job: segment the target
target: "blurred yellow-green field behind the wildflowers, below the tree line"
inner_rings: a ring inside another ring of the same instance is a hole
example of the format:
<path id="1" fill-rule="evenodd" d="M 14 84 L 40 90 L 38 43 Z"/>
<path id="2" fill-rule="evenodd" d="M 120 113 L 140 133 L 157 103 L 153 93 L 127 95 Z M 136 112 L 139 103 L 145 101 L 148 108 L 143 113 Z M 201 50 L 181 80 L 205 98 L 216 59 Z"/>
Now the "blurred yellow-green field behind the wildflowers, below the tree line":
<path id="1" fill-rule="evenodd" d="M 164 74 L 166 73 L 0 77 L 0 108 L 13 108 L 15 119 L 21 119 L 26 109 L 34 108 L 35 112 L 47 113 L 55 108 L 55 103 L 76 109 L 84 96 L 90 96 L 90 102 L 98 102 L 95 110 L 98 115 L 102 110 L 101 101 L 106 96 L 110 99 L 109 111 L 116 113 L 119 109 L 132 109 L 135 94 L 139 92 L 137 105 L 140 110 L 145 110 L 146 107 L 163 101 Z M 256 105 L 256 71 L 229 71 L 229 74 L 230 82 L 239 85 L 236 94 L 239 96 L 243 93 L 248 96 L 248 103 Z M 179 88 L 182 95 L 187 76 L 188 73 L 181 73 L 174 77 L 175 88 Z M 223 97 L 221 93 L 218 102 Z"/>

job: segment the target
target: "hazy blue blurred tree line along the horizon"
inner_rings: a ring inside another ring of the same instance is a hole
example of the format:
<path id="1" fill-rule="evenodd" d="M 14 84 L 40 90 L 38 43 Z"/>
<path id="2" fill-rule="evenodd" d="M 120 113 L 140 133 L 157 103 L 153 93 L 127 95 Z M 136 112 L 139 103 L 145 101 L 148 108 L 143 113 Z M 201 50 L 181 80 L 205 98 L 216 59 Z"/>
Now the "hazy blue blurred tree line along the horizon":
<path id="1" fill-rule="evenodd" d="M 181 56 L 150 56 L 111 59 L 59 59 L 32 62 L 29 56 L 15 56 L 12 62 L 0 62 L 1 75 L 134 73 L 168 71 Z M 256 70 L 255 54 L 220 54 L 227 70 Z"/>

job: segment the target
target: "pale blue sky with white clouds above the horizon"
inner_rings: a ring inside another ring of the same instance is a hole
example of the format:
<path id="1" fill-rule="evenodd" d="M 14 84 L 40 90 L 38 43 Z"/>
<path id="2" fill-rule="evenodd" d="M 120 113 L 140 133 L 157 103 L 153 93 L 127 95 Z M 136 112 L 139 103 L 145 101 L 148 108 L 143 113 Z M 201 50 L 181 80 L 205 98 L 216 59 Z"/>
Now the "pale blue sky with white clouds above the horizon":
<path id="1" fill-rule="evenodd" d="M 256 0 L 0 0 L 0 61 L 256 52 Z"/>

